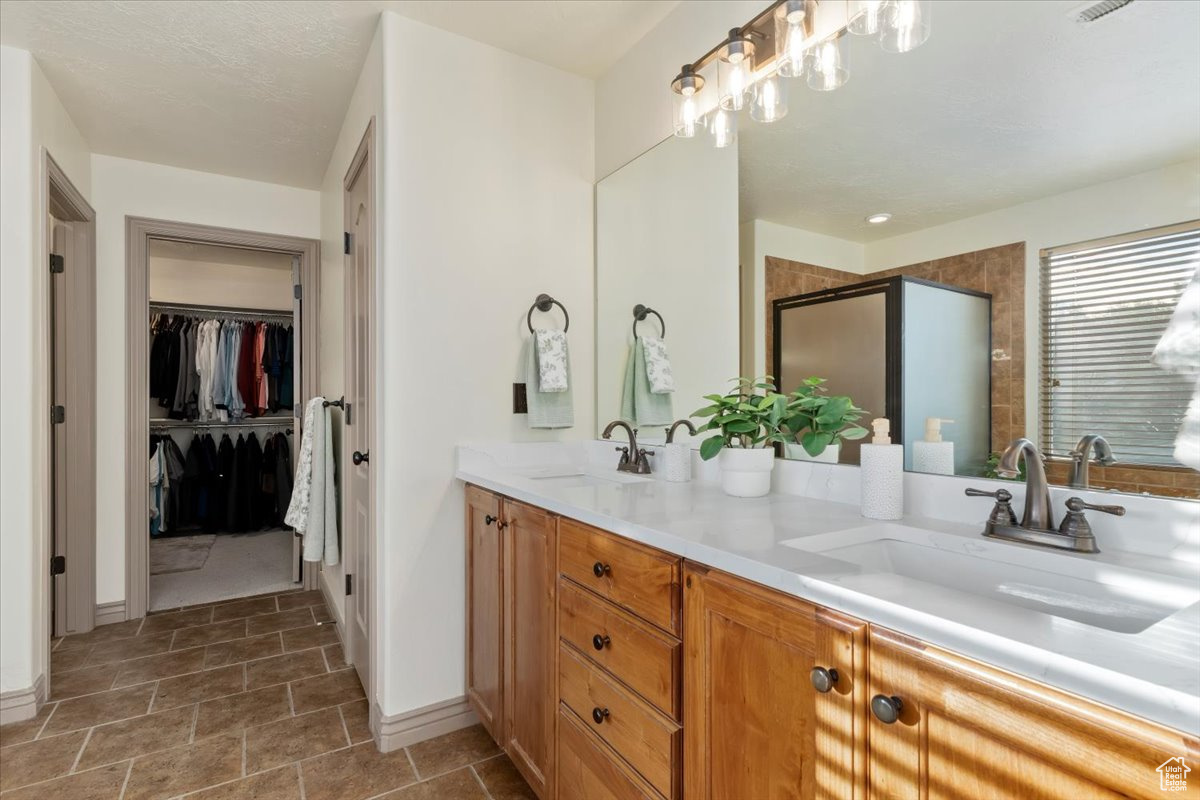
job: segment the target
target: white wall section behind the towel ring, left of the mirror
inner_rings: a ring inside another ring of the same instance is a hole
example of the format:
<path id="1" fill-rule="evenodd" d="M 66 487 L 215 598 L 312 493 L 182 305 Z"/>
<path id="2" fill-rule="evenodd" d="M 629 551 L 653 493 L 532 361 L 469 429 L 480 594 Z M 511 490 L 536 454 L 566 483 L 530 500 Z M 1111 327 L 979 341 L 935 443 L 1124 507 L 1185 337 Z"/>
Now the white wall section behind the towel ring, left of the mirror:
<path id="1" fill-rule="evenodd" d="M 382 24 L 372 667 L 380 710 L 394 715 L 464 692 L 456 443 L 595 429 L 594 152 L 590 80 L 391 13 Z M 529 431 L 511 408 L 526 312 L 541 291 L 571 314 L 566 431 Z"/>

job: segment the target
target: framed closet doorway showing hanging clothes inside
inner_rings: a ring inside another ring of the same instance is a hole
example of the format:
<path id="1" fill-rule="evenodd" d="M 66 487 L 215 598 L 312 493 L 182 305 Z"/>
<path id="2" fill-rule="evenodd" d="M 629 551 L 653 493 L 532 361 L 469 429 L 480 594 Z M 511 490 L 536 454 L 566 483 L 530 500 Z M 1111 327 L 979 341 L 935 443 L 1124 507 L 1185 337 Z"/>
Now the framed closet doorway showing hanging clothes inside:
<path id="1" fill-rule="evenodd" d="M 317 393 L 319 242 L 132 217 L 126 233 L 126 616 L 316 589 L 283 515 Z"/>

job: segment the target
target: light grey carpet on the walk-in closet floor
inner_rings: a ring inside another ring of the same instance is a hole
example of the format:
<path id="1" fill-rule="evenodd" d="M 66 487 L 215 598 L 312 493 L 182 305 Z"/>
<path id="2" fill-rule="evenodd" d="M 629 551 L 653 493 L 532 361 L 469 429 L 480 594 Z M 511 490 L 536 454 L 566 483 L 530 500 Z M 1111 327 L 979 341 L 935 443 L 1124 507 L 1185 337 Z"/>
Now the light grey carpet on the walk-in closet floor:
<path id="1" fill-rule="evenodd" d="M 266 530 L 151 539 L 150 610 L 294 589 L 293 536 L 290 530 Z M 199 569 L 155 575 L 154 564 L 170 560 L 162 551 L 185 548 L 187 542 L 202 547 L 209 539 L 212 546 Z"/>

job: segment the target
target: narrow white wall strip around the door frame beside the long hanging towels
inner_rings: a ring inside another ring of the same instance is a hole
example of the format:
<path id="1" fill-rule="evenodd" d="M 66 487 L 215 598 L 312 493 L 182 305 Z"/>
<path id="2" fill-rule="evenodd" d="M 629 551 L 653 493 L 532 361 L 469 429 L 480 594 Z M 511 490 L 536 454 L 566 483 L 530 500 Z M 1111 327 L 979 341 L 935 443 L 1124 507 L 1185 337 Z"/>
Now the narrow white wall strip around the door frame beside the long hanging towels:
<path id="1" fill-rule="evenodd" d="M 341 397 L 346 393 L 346 265 L 342 233 L 343 222 L 343 180 L 350 167 L 350 160 L 358 151 L 359 142 L 367 128 L 371 118 L 377 118 L 383 110 L 383 41 L 382 26 L 376 28 L 374 40 L 367 58 L 359 72 L 359 80 L 350 96 L 350 104 L 342 121 L 342 130 L 329 160 L 325 176 L 320 184 L 320 374 L 318 387 L 325 397 Z M 378 158 L 378 122 L 376 130 L 376 205 L 378 209 L 379 158 Z M 376 253 L 379 253 L 379 235 L 383 230 L 383 218 L 376 230 Z M 342 415 L 334 414 L 334 447 L 340 452 L 342 440 Z M 343 581 L 346 570 L 341 564 L 322 566 L 322 581 L 325 591 L 334 600 L 330 610 L 337 618 L 338 625 L 346 621 L 346 593 Z"/>

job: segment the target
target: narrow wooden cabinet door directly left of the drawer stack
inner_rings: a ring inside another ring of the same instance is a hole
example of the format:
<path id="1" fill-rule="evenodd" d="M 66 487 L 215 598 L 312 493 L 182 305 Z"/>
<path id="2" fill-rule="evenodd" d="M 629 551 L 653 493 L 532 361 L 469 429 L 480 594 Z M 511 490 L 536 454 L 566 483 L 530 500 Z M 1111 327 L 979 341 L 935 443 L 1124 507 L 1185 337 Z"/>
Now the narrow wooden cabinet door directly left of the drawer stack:
<path id="1" fill-rule="evenodd" d="M 548 798 L 557 705 L 556 519 L 540 509 L 505 500 L 504 522 L 504 748 L 538 796 Z"/>

